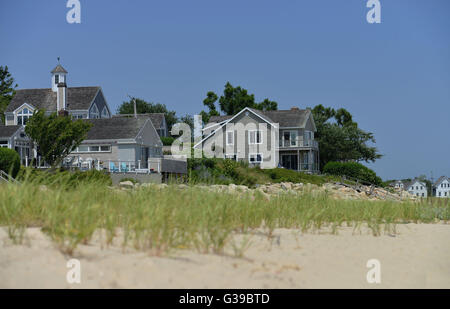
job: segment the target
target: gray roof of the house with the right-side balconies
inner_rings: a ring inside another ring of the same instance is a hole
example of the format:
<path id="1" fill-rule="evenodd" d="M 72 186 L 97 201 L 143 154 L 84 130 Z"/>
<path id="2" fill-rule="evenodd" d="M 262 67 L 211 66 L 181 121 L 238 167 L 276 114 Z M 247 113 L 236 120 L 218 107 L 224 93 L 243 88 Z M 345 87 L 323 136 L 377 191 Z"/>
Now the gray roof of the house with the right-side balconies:
<path id="1" fill-rule="evenodd" d="M 280 128 L 304 128 L 308 121 L 310 110 L 305 109 L 290 109 L 290 110 L 278 110 L 278 111 L 260 111 L 250 108 L 255 114 L 271 121 L 272 123 L 278 123 Z M 220 123 L 228 120 L 233 116 L 213 116 L 209 122 Z"/>

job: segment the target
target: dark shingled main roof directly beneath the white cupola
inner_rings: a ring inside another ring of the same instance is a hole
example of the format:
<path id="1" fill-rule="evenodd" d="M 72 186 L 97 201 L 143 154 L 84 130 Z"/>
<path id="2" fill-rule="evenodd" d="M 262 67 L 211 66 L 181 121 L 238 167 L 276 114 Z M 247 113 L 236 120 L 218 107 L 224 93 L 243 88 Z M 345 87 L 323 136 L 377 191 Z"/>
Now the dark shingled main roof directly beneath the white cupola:
<path id="1" fill-rule="evenodd" d="M 88 110 L 100 87 L 67 88 L 67 110 Z M 51 88 L 17 90 L 6 112 L 13 112 L 24 103 L 36 109 L 56 112 L 56 92 Z"/>

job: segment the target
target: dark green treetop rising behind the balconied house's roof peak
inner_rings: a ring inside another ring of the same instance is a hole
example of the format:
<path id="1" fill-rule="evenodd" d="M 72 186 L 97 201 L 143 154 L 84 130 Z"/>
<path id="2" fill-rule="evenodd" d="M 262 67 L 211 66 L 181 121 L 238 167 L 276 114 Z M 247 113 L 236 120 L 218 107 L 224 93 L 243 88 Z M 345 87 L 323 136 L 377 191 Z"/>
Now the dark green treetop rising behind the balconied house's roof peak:
<path id="1" fill-rule="evenodd" d="M 229 82 L 225 85 L 223 95 L 220 98 L 214 92 L 210 91 L 203 100 L 203 104 L 208 111 L 202 111 L 202 119 L 208 122 L 211 116 L 218 116 L 220 113 L 216 109 L 215 103 L 219 100 L 219 107 L 225 115 L 235 115 L 246 107 L 259 110 L 277 110 L 278 103 L 265 99 L 261 103 L 255 102 L 255 95 L 249 94 L 248 91 L 240 86 L 233 87 Z"/>

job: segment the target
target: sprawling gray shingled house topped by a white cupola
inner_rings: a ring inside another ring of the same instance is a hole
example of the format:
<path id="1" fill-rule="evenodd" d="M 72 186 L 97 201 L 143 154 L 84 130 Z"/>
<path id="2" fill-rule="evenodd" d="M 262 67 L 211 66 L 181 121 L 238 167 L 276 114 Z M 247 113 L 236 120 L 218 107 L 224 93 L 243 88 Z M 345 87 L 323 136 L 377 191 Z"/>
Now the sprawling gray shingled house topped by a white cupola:
<path id="1" fill-rule="evenodd" d="M 15 149 L 24 165 L 32 158 L 41 162 L 24 127 L 36 110 L 58 112 L 92 123 L 86 140 L 64 161 L 67 166 L 111 172 L 185 174 L 185 162 L 163 159 L 160 136 L 168 134 L 163 114 L 112 117 L 100 87 L 67 87 L 67 71 L 58 64 L 51 71 L 51 88 L 17 90 L 6 109 L 6 125 L 0 126 L 0 146 Z M 156 128 L 154 126 L 156 124 Z M 154 163 L 155 166 L 151 166 Z"/>

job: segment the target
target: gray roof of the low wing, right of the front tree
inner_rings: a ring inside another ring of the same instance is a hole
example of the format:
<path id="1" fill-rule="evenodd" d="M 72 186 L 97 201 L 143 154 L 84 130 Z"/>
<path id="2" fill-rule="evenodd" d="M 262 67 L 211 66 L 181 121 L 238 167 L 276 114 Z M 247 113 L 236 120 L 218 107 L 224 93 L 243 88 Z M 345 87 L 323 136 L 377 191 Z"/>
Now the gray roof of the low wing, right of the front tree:
<path id="1" fill-rule="evenodd" d="M 89 130 L 86 140 L 116 140 L 134 139 L 148 118 L 102 118 L 86 119 L 84 121 L 93 124 Z"/>

